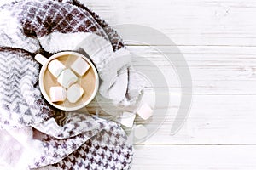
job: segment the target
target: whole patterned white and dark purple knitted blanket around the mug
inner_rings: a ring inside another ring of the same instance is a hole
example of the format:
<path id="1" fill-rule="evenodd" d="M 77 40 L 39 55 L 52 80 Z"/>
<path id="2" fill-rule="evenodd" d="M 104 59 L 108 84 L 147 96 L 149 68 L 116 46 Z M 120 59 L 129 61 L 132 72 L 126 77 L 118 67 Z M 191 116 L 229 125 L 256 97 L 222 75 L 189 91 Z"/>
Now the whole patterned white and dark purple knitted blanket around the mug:
<path id="1" fill-rule="evenodd" d="M 129 105 L 143 88 L 131 58 L 108 24 L 76 0 L 17 1 L 0 8 L 0 167 L 129 169 L 132 146 L 115 122 L 58 111 L 38 88 L 35 54 L 86 52 L 99 92 Z M 114 77 L 114 78 L 113 78 Z"/>

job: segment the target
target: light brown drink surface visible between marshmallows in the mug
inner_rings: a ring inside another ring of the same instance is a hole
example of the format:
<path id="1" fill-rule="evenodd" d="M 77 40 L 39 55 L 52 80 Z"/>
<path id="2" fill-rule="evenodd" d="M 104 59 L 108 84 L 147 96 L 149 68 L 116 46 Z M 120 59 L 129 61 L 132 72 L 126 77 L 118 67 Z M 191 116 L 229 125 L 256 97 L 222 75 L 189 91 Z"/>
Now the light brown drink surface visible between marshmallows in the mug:
<path id="1" fill-rule="evenodd" d="M 67 54 L 67 55 L 61 55 L 60 57 L 56 58 L 63 65 L 65 65 L 67 68 L 70 69 L 70 66 L 73 64 L 73 62 L 78 59 L 78 56 L 75 54 Z M 85 60 L 85 59 L 84 59 Z M 88 62 L 87 62 L 88 63 Z M 89 64 L 89 63 L 88 63 Z M 89 64 L 90 65 L 90 64 Z M 73 71 L 74 74 L 76 74 Z M 75 107 L 84 104 L 85 101 L 90 99 L 90 96 L 93 94 L 94 89 L 96 88 L 96 77 L 95 73 L 90 65 L 90 69 L 85 72 L 85 74 L 80 77 L 78 74 L 76 76 L 79 78 L 78 83 L 83 89 L 84 94 L 83 96 L 76 102 L 76 103 L 70 103 L 67 99 L 63 102 L 55 102 L 56 105 L 61 105 L 63 107 Z M 44 89 L 46 91 L 46 94 L 49 96 L 49 88 L 53 86 L 61 86 L 59 82 L 57 82 L 57 78 L 55 78 L 48 69 L 44 71 Z"/>

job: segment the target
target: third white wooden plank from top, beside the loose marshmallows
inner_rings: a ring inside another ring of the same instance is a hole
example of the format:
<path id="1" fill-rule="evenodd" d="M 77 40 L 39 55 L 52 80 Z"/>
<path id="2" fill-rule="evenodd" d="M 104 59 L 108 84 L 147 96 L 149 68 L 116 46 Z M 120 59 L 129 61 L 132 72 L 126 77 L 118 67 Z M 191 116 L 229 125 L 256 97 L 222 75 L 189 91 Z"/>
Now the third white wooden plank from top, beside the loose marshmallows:
<path id="1" fill-rule="evenodd" d="M 160 103 L 154 105 L 157 95 L 161 97 Z M 143 99 L 155 107 L 152 119 L 136 122 L 148 127 L 149 137 L 141 142 L 143 144 L 256 144 L 256 95 L 194 94 L 187 121 L 175 135 L 171 135 L 171 128 L 177 110 L 189 106 L 180 105 L 180 94 L 157 95 L 143 95 Z M 169 98 L 169 105 L 161 103 L 163 97 Z M 108 113 L 113 117 L 128 110 L 109 101 L 100 103 L 105 108 L 108 106 Z M 91 112 L 98 109 L 100 116 L 105 115 L 96 102 L 87 108 Z"/>

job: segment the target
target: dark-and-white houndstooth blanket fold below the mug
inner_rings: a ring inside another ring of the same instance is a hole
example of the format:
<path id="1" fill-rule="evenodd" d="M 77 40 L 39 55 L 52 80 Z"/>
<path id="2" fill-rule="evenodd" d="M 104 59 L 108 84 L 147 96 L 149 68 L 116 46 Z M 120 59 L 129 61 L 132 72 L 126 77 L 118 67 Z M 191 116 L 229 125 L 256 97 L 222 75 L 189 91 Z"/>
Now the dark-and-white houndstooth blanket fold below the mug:
<path id="1" fill-rule="evenodd" d="M 43 167 L 49 164 L 61 169 L 129 169 L 131 167 L 132 147 L 119 125 L 96 116 L 69 114 L 61 112 L 59 115 L 66 117 L 65 120 L 69 122 L 63 127 L 57 125 L 53 127 L 52 120 L 44 122 L 48 123 L 48 126 L 44 124 L 40 125 L 43 128 L 36 127 L 40 131 L 35 133 L 35 139 L 39 139 L 44 147 L 31 167 Z M 52 130 L 45 133 L 44 127 L 55 129 L 57 133 L 54 134 Z"/>

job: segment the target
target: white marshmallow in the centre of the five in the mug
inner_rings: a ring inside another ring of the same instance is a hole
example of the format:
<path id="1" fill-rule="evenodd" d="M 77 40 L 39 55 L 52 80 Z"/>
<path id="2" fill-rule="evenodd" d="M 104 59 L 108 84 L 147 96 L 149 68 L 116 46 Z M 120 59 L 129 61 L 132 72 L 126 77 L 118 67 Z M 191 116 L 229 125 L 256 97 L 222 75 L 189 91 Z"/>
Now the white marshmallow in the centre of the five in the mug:
<path id="1" fill-rule="evenodd" d="M 74 82 L 78 81 L 78 77 L 70 69 L 61 72 L 57 79 L 64 88 L 69 88 Z"/>

